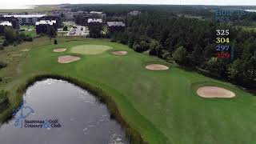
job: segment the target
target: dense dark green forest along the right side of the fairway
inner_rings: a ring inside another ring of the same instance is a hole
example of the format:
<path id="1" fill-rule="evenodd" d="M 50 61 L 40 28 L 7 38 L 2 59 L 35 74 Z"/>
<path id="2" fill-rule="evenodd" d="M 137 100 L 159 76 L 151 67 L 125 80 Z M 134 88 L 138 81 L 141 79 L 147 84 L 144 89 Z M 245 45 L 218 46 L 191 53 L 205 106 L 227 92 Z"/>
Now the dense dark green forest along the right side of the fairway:
<path id="1" fill-rule="evenodd" d="M 149 54 L 211 76 L 256 90 L 256 33 L 232 24 L 220 24 L 174 14 L 145 12 L 127 19 L 124 32 L 111 34 L 137 52 Z M 230 30 L 232 58 L 217 58 L 216 30 Z"/>

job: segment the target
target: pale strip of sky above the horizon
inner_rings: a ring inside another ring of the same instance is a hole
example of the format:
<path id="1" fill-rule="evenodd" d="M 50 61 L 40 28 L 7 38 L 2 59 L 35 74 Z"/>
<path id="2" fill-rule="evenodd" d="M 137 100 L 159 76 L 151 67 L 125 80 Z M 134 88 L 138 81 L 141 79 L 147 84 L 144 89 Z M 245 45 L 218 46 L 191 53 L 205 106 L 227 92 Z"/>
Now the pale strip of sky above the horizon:
<path id="1" fill-rule="evenodd" d="M 1 0 L 2 1 L 2 0 Z M 168 5 L 246 5 L 256 6 L 256 0 L 4 0 L 0 8 L 13 8 L 24 5 L 62 3 L 114 3 L 114 4 L 168 4 Z"/>

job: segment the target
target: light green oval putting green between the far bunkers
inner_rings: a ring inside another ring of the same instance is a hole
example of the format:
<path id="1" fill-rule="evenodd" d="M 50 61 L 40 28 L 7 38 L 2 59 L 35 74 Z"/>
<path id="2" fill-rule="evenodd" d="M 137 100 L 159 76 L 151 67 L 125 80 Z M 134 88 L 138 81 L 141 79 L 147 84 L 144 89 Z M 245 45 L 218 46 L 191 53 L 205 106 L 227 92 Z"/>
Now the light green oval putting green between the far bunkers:
<path id="1" fill-rule="evenodd" d="M 103 45 L 80 45 L 71 48 L 72 53 L 77 54 L 102 54 L 106 50 L 110 50 L 112 47 Z"/>

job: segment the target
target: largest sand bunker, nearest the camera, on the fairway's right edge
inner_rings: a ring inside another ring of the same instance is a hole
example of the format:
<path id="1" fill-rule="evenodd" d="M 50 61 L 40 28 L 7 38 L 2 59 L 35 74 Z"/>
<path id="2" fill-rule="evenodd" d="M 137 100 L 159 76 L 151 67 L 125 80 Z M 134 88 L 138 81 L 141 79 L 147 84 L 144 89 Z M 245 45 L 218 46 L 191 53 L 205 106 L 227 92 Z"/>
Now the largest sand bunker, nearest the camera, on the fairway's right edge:
<path id="1" fill-rule="evenodd" d="M 233 98 L 235 94 L 217 86 L 203 86 L 197 90 L 197 93 L 202 98 Z"/>

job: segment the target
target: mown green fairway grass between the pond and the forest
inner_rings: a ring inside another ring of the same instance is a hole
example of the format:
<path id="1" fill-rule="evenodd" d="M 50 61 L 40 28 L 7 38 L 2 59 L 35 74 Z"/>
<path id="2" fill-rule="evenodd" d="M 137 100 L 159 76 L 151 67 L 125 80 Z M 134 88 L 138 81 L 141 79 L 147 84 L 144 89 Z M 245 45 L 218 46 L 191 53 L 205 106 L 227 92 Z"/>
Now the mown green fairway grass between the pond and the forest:
<path id="1" fill-rule="evenodd" d="M 110 50 L 83 55 L 86 45 L 109 46 L 112 50 L 126 50 L 117 56 Z M 78 46 L 76 49 L 71 49 Z M 54 53 L 58 47 L 68 48 Z M 24 51 L 21 50 L 30 50 Z M 79 61 L 69 64 L 57 62 L 58 56 L 82 50 Z M 71 51 L 70 51 L 71 50 Z M 18 55 L 19 54 L 19 55 Z M 53 45 L 49 38 L 35 38 L 0 53 L 0 61 L 8 66 L 0 70 L 0 90 L 8 90 L 10 107 L 18 106 L 19 86 L 38 74 L 69 75 L 81 82 L 89 82 L 106 90 L 116 102 L 122 116 L 141 132 L 146 141 L 154 144 L 251 144 L 256 142 L 256 97 L 227 82 L 207 78 L 182 70 L 177 66 L 138 54 L 108 39 L 58 38 Z M 169 70 L 146 70 L 150 63 L 169 66 Z M 200 86 L 222 86 L 232 90 L 235 98 L 200 98 L 195 93 Z M 0 114 L 3 118 L 5 112 Z"/>

